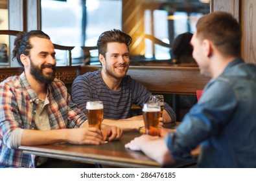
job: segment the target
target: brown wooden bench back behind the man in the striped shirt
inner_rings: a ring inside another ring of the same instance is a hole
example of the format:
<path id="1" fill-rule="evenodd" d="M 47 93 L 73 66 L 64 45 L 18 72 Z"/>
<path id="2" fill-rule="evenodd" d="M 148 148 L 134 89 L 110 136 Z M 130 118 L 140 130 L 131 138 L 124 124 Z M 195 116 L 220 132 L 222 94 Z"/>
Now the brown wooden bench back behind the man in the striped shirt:
<path id="1" fill-rule="evenodd" d="M 80 74 L 93 72 L 100 67 L 81 66 Z M 181 120 L 195 103 L 196 91 L 204 89 L 209 81 L 209 78 L 200 74 L 198 67 L 180 67 L 177 65 L 168 67 L 130 66 L 127 74 L 145 85 L 152 94 L 163 94 L 165 101 L 176 112 L 178 120 Z M 192 95 L 194 95 L 194 99 Z M 181 102 L 184 100 L 190 102 L 188 106 L 182 105 Z M 141 108 L 138 106 L 133 105 L 132 109 L 135 114 L 141 112 Z"/>

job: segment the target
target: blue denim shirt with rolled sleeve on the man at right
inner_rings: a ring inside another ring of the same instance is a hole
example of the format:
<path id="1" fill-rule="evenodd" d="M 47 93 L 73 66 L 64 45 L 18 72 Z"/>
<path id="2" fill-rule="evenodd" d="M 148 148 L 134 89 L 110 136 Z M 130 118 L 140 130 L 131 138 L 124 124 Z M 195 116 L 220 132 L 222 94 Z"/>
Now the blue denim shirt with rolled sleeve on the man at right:
<path id="1" fill-rule="evenodd" d="M 229 63 L 165 142 L 177 161 L 200 144 L 199 167 L 256 167 L 256 65 Z"/>

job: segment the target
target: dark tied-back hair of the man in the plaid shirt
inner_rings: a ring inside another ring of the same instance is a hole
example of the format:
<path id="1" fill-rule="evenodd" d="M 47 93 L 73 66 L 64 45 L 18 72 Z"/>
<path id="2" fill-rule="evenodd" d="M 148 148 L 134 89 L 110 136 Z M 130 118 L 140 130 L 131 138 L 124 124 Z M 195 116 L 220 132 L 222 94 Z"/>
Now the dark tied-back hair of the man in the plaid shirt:
<path id="1" fill-rule="evenodd" d="M 20 32 L 19 34 L 17 34 L 17 37 L 14 41 L 14 50 L 12 50 L 12 59 L 17 58 L 17 62 L 22 67 L 24 67 L 24 65 L 23 63 L 21 63 L 20 56 L 21 54 L 29 56 L 30 49 L 32 48 L 32 45 L 30 43 L 31 37 L 50 39 L 50 37 L 41 30 L 31 30 L 30 32 Z"/>

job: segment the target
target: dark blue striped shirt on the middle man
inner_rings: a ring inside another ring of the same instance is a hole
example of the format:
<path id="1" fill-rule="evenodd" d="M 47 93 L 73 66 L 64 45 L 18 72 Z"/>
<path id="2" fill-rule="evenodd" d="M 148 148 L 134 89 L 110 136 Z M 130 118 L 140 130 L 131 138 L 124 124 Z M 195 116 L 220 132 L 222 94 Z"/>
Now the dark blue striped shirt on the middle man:
<path id="1" fill-rule="evenodd" d="M 143 107 L 151 93 L 141 83 L 126 75 L 121 81 L 121 91 L 112 91 L 104 83 L 100 74 L 102 69 L 95 72 L 87 72 L 78 76 L 72 85 L 72 100 L 86 112 L 86 102 L 100 100 L 104 105 L 104 118 L 119 120 L 130 117 L 132 105 Z M 176 114 L 165 103 L 164 109 L 169 113 L 172 122 L 176 120 Z"/>

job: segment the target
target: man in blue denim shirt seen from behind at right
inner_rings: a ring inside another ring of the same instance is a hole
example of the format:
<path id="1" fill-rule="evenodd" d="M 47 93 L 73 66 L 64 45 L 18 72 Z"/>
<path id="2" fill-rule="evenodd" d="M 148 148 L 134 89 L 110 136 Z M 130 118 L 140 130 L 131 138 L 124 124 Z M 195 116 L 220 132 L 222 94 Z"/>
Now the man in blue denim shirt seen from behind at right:
<path id="1" fill-rule="evenodd" d="M 191 160 L 198 167 L 256 167 L 256 66 L 240 58 L 239 23 L 226 12 L 201 17 L 191 39 L 192 56 L 211 81 L 176 131 L 143 135 L 126 147 L 163 165 Z"/>

